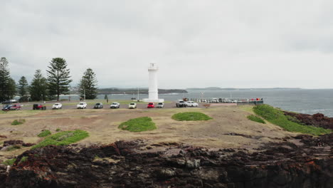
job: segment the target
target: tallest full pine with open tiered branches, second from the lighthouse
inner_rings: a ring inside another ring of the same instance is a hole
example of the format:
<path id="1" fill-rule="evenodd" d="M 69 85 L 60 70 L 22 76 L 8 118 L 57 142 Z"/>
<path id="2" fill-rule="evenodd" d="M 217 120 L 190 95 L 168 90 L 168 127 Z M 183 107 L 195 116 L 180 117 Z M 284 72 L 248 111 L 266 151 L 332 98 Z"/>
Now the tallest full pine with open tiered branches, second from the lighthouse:
<path id="1" fill-rule="evenodd" d="M 70 80 L 70 70 L 67 68 L 65 59 L 53 58 L 47 73 L 49 95 L 56 95 L 59 100 L 59 95 L 68 94 L 72 80 Z"/>

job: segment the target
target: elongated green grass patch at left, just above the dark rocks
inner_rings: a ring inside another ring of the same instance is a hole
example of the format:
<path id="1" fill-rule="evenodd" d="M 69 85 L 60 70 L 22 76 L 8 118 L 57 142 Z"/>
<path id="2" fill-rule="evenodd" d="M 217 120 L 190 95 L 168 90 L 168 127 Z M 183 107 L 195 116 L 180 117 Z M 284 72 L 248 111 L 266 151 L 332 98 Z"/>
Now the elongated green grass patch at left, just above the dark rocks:
<path id="1" fill-rule="evenodd" d="M 45 147 L 47 145 L 70 145 L 72 143 L 83 140 L 86 137 L 89 137 L 89 133 L 84 130 L 68 130 L 58 132 L 54 135 L 49 135 L 45 138 L 45 140 L 39 142 L 37 145 L 34 145 L 32 149 Z"/>

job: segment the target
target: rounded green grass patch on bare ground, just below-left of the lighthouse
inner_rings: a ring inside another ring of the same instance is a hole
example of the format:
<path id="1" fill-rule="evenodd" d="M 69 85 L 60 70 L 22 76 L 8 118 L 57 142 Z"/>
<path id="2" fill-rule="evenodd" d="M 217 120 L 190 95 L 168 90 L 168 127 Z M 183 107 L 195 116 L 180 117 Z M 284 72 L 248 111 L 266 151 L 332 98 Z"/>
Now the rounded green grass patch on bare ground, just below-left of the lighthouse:
<path id="1" fill-rule="evenodd" d="M 147 130 L 157 129 L 155 123 L 150 117 L 139 117 L 135 119 L 130 119 L 127 122 L 122 122 L 118 128 L 122 130 L 128 130 L 131 132 L 142 132 Z"/>

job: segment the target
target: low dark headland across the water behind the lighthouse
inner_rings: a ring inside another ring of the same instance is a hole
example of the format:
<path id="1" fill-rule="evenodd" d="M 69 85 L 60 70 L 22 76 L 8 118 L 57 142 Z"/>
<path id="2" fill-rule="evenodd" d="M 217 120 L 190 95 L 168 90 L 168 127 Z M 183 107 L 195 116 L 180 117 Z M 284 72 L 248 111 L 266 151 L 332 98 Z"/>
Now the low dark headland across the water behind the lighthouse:
<path id="1" fill-rule="evenodd" d="M 110 94 L 137 94 L 137 88 L 100 88 L 97 90 L 99 95 Z M 187 90 L 179 89 L 159 89 L 159 94 L 187 93 Z M 148 88 L 139 88 L 139 94 L 148 94 Z"/>

